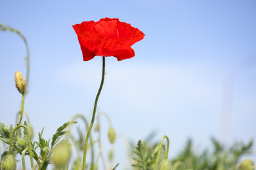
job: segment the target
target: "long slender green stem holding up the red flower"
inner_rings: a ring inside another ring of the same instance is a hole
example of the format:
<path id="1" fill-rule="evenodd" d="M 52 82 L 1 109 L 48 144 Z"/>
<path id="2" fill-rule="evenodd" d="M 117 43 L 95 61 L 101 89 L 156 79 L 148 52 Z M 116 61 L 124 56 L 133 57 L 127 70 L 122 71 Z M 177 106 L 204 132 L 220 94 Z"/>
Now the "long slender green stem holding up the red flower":
<path id="1" fill-rule="evenodd" d="M 85 169 L 85 160 L 86 160 L 86 153 L 87 153 L 87 143 L 88 143 L 88 139 L 91 133 L 91 129 L 93 128 L 93 122 L 95 122 L 95 114 L 96 114 L 96 107 L 97 107 L 97 103 L 98 103 L 98 97 L 100 96 L 100 92 L 102 90 L 102 86 L 104 83 L 104 78 L 105 78 L 105 57 L 102 57 L 102 78 L 101 78 L 101 82 L 100 82 L 100 88 L 98 89 L 98 93 L 96 95 L 96 99 L 95 99 L 95 106 L 93 108 L 93 117 L 91 119 L 91 124 L 90 127 L 87 131 L 87 135 L 86 135 L 86 139 L 85 139 L 85 147 L 83 150 L 83 167 L 82 169 Z"/>

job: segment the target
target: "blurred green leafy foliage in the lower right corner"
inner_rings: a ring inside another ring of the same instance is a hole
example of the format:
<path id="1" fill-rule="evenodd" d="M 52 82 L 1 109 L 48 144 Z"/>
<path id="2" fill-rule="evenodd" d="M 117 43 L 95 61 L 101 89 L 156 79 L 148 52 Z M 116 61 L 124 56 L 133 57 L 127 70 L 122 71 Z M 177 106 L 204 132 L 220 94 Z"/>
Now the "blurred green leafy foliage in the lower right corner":
<path id="1" fill-rule="evenodd" d="M 245 154 L 251 153 L 253 141 L 249 143 L 234 143 L 230 148 L 226 148 L 217 139 L 211 138 L 213 152 L 204 150 L 202 154 L 197 154 L 192 150 L 192 140 L 189 139 L 184 150 L 172 161 L 175 163 L 184 163 L 186 167 L 192 167 L 197 170 L 219 170 L 236 169 L 238 160 Z"/>

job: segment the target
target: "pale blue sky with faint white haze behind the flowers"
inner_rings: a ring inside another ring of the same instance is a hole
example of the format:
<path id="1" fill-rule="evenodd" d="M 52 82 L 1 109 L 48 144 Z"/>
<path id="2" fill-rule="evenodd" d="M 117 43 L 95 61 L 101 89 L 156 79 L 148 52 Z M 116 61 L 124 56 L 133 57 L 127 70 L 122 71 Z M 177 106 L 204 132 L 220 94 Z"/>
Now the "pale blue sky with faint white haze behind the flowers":
<path id="1" fill-rule="evenodd" d="M 256 1 L 2 0 L 0 16 L 28 40 L 25 110 L 36 132 L 46 126 L 46 139 L 76 112 L 90 119 L 101 58 L 83 61 L 72 25 L 105 17 L 146 35 L 133 45 L 135 58 L 106 59 L 98 108 L 110 115 L 117 134 L 137 142 L 156 130 L 156 140 L 169 137 L 170 157 L 188 137 L 196 150 L 208 146 L 211 136 L 226 144 L 256 137 Z M 14 73 L 26 73 L 26 48 L 9 32 L 0 32 L 0 44 L 0 122 L 9 125 L 20 107 Z M 224 109 L 229 114 L 223 124 Z M 101 122 L 107 131 L 106 120 Z M 122 147 L 118 139 L 115 163 L 123 162 L 125 153 L 117 151 Z"/>

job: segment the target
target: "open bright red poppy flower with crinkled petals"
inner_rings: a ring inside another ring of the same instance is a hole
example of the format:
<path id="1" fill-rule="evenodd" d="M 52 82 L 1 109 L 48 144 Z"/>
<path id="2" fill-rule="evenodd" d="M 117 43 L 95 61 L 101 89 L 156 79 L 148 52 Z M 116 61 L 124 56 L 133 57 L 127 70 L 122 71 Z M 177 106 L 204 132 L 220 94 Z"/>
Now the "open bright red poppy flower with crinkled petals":
<path id="1" fill-rule="evenodd" d="M 82 22 L 73 28 L 81 45 L 83 61 L 95 56 L 114 56 L 118 61 L 133 58 L 135 52 L 131 46 L 145 36 L 138 28 L 119 22 L 117 18 Z"/>

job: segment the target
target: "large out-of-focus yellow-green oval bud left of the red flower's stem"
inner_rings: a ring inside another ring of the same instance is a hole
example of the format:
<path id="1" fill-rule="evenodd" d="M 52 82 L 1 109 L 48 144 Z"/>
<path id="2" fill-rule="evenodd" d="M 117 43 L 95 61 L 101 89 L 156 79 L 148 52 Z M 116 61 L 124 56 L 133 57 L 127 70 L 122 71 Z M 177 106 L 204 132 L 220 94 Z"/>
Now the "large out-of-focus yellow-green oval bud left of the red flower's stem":
<path id="1" fill-rule="evenodd" d="M 53 163 L 57 168 L 63 168 L 70 160 L 71 147 L 67 142 L 58 144 L 53 151 Z"/>

